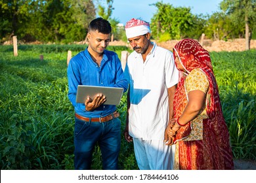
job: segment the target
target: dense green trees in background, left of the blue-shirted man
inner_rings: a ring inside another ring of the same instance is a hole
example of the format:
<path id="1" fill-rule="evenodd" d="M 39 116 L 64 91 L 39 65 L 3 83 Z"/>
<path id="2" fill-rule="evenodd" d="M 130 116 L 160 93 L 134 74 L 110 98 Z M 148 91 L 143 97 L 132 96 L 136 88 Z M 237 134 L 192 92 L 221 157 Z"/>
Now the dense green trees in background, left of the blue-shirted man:
<path id="1" fill-rule="evenodd" d="M 0 0 L 0 37 L 81 41 L 95 15 L 93 0 Z"/>

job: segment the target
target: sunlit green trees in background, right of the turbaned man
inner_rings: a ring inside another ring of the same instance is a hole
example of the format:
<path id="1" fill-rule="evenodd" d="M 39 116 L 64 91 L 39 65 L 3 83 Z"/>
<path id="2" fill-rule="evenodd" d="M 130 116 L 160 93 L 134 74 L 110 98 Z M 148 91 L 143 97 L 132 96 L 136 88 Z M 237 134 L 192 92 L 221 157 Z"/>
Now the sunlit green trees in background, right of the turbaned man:
<path id="1" fill-rule="evenodd" d="M 194 15 L 190 8 L 173 7 L 170 3 L 158 2 L 153 5 L 158 10 L 151 20 L 152 32 L 160 40 L 162 36 L 166 38 L 167 34 L 169 39 L 190 37 L 199 40 L 202 33 L 214 40 L 245 37 L 245 15 L 248 16 L 248 33 L 255 37 L 255 0 L 223 0 L 221 11 L 211 16 Z"/>

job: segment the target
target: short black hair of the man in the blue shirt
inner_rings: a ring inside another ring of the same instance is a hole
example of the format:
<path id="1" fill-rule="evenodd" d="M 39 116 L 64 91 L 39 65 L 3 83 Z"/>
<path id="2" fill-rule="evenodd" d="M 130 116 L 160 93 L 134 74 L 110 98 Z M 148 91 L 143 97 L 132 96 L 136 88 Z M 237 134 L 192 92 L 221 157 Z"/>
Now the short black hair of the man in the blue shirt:
<path id="1" fill-rule="evenodd" d="M 91 21 L 89 31 L 98 31 L 99 33 L 109 34 L 111 33 L 112 28 L 108 20 L 99 17 Z"/>

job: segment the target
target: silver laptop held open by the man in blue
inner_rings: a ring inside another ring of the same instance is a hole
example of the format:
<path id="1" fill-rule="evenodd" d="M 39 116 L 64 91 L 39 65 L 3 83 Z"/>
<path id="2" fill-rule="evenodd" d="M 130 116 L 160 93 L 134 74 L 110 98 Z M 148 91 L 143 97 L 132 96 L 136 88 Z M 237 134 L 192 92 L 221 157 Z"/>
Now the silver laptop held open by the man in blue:
<path id="1" fill-rule="evenodd" d="M 106 96 L 104 105 L 119 105 L 123 95 L 123 88 L 78 85 L 76 102 L 85 103 L 88 96 L 94 99 L 98 93 L 102 93 L 102 95 Z"/>

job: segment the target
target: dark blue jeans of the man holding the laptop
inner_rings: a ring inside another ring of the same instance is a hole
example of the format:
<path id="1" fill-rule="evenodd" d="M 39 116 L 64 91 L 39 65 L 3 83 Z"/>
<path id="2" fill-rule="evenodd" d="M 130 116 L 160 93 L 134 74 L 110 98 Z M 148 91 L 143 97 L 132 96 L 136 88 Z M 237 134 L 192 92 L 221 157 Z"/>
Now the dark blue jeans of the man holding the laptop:
<path id="1" fill-rule="evenodd" d="M 91 161 L 96 142 L 98 142 L 101 150 L 103 169 L 118 169 L 118 156 L 121 144 L 120 132 L 121 122 L 118 118 L 103 123 L 84 122 L 75 118 L 75 169 L 91 169 Z"/>

